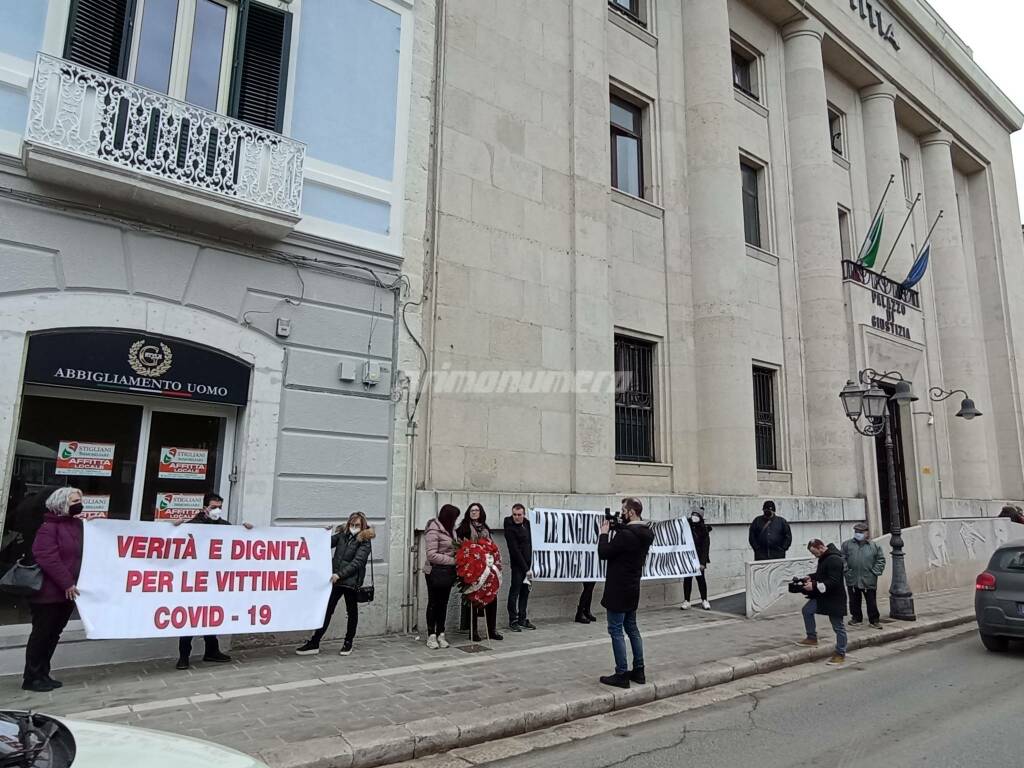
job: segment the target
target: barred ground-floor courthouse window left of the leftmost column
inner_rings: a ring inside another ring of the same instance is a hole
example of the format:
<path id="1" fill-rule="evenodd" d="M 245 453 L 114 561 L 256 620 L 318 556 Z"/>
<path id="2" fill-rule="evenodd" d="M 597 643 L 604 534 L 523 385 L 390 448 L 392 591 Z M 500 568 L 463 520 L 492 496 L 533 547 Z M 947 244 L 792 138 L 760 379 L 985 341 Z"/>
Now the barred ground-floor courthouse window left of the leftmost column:
<path id="1" fill-rule="evenodd" d="M 615 459 L 654 461 L 654 344 L 615 336 Z"/>

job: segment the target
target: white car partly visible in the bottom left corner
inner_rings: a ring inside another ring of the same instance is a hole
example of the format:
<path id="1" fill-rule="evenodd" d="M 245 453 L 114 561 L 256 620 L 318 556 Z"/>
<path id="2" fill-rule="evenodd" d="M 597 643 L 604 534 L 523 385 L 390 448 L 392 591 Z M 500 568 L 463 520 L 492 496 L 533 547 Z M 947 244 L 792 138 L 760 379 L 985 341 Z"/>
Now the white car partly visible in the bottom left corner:
<path id="1" fill-rule="evenodd" d="M 267 768 L 226 746 L 147 728 L 0 711 L 0 768 Z"/>

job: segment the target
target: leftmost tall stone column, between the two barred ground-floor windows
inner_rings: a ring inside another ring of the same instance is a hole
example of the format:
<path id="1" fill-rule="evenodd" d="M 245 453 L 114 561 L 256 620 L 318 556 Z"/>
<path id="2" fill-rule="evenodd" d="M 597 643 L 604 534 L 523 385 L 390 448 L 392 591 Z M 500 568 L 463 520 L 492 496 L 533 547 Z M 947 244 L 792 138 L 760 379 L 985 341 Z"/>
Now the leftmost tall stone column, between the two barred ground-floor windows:
<path id="1" fill-rule="evenodd" d="M 739 142 L 720 0 L 682 4 L 698 489 L 754 494 L 754 394 Z"/>

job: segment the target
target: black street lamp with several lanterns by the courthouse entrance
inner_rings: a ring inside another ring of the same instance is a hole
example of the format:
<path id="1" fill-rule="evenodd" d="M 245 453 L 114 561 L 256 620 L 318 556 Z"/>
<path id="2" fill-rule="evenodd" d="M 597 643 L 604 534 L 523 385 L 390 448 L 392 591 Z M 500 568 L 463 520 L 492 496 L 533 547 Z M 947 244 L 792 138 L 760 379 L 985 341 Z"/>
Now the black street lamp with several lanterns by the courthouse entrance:
<path id="1" fill-rule="evenodd" d="M 866 368 L 857 375 L 859 384 L 848 381 L 840 399 L 847 418 L 853 422 L 853 428 L 866 437 L 874 437 L 885 432 L 886 441 L 886 474 L 889 482 L 889 542 L 892 545 L 893 578 L 889 587 L 889 615 L 904 622 L 913 622 L 916 614 L 913 610 L 913 593 L 906 580 L 906 563 L 903 561 L 903 526 L 900 519 L 899 499 L 896 496 L 896 462 L 893 456 L 893 436 L 889 425 L 889 401 L 897 406 L 911 403 L 918 396 L 910 389 L 910 382 L 898 371 L 879 373 L 872 368 Z M 879 384 L 885 381 L 895 382 L 895 391 L 890 396 Z M 946 391 L 941 387 L 932 387 L 928 394 L 933 402 L 948 399 L 954 394 L 963 394 L 961 410 L 956 413 L 962 419 L 971 420 L 981 416 L 975 408 L 974 400 L 963 389 Z M 861 417 L 864 425 L 861 426 Z"/>

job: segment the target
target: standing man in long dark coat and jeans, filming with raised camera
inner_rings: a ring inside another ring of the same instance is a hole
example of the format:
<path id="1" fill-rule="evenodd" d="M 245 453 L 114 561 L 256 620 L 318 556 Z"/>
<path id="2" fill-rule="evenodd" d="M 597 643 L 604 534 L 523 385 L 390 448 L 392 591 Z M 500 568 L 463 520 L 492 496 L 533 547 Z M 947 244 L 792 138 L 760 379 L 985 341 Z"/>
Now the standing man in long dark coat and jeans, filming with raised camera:
<path id="1" fill-rule="evenodd" d="M 597 556 L 608 562 L 601 605 L 608 611 L 608 634 L 615 656 L 615 674 L 602 677 L 601 682 L 617 688 L 629 688 L 631 680 L 647 682 L 637 608 L 640 606 L 640 579 L 654 534 L 641 519 L 642 514 L 643 505 L 639 499 L 623 499 L 622 523 L 616 524 L 614 536 L 609 536 L 611 526 L 607 520 L 602 522 L 597 544 Z M 624 630 L 633 649 L 632 672 L 626 656 Z"/>

